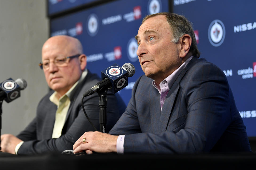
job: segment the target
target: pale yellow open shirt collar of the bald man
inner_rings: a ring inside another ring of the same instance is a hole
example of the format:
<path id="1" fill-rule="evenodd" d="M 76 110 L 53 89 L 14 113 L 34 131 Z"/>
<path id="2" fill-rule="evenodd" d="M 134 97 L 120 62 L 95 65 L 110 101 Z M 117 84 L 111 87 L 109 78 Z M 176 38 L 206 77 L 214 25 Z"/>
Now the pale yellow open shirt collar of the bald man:
<path id="1" fill-rule="evenodd" d="M 82 74 L 81 77 L 77 80 L 77 82 L 75 82 L 75 84 L 69 89 L 69 91 L 67 91 L 63 96 L 61 96 L 59 99 L 57 97 L 57 92 L 55 91 L 50 97 L 50 101 L 53 102 L 54 104 L 58 105 L 59 101 L 63 98 L 63 97 L 69 97 L 69 99 L 71 98 L 71 96 L 74 94 L 74 88 L 77 86 L 78 83 L 80 83 L 88 74 L 88 70 L 85 69 Z"/>

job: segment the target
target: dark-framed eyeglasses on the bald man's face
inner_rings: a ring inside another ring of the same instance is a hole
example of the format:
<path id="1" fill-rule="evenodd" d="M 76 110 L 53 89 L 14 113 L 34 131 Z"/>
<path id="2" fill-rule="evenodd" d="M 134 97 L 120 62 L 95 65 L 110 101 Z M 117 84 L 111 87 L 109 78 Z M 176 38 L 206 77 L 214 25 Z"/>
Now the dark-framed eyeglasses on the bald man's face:
<path id="1" fill-rule="evenodd" d="M 57 67 L 66 67 L 67 66 L 67 63 L 69 62 L 69 60 L 67 60 L 68 58 L 75 58 L 75 57 L 79 57 L 81 54 L 77 54 L 77 55 L 74 55 L 74 56 L 70 56 L 70 57 L 65 57 L 65 58 L 55 58 L 54 59 L 54 63 Z M 49 69 L 50 67 L 50 60 L 45 60 L 43 62 L 40 62 L 39 63 L 39 67 L 41 69 Z"/>

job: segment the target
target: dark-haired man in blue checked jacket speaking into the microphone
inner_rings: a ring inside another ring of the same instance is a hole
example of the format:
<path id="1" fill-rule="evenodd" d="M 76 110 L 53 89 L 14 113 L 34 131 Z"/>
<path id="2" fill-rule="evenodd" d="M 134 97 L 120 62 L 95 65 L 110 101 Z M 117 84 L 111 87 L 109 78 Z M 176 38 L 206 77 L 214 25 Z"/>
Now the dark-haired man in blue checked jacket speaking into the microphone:
<path id="1" fill-rule="evenodd" d="M 193 28 L 180 15 L 146 16 L 135 36 L 145 72 L 109 132 L 86 132 L 73 149 L 117 153 L 251 151 L 226 76 L 198 59 Z"/>

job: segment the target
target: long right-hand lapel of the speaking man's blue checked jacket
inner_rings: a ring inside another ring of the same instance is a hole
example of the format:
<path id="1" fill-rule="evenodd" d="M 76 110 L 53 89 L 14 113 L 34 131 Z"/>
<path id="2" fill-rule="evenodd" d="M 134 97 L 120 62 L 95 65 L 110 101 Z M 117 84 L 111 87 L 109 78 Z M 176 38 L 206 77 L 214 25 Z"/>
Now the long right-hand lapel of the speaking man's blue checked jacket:
<path id="1" fill-rule="evenodd" d="M 181 73 L 179 74 L 179 76 L 177 77 L 177 79 L 175 80 L 173 85 L 171 86 L 171 88 L 166 96 L 165 103 L 163 104 L 163 108 L 162 108 L 162 112 L 161 112 L 161 116 L 160 116 L 160 120 L 159 120 L 159 132 L 166 131 L 168 123 L 173 122 L 173 120 L 171 120 L 171 118 L 172 117 L 175 118 L 175 115 L 172 115 L 172 113 L 173 113 L 172 109 L 173 109 L 175 101 L 176 101 L 176 96 L 179 93 L 179 89 L 180 89 L 179 83 L 182 80 L 182 78 L 184 77 L 185 73 L 190 69 L 191 66 L 194 65 L 193 63 L 195 61 L 197 61 L 197 58 L 193 57 L 190 60 L 190 62 L 188 63 L 188 65 L 181 71 Z"/>

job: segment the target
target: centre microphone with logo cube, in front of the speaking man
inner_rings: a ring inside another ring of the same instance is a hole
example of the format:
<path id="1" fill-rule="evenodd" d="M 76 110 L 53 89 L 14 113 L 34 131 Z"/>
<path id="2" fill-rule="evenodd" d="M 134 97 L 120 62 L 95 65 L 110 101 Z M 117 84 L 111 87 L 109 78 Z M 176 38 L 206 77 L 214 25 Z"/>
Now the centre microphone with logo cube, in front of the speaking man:
<path id="1" fill-rule="evenodd" d="M 135 67 L 131 63 L 125 63 L 122 67 L 116 63 L 101 72 L 102 80 L 91 87 L 83 96 L 89 96 L 95 92 L 108 88 L 113 94 L 127 86 L 127 78 L 135 73 Z"/>

